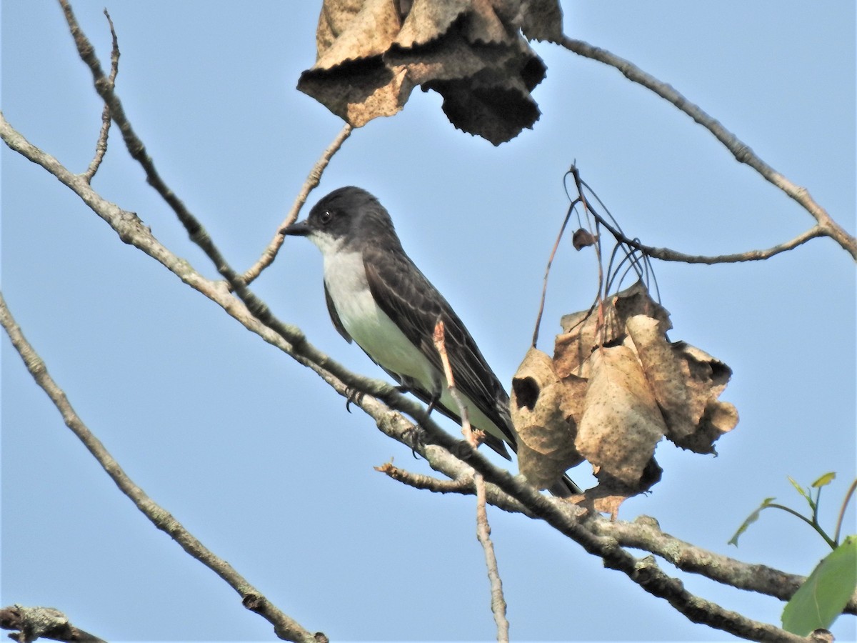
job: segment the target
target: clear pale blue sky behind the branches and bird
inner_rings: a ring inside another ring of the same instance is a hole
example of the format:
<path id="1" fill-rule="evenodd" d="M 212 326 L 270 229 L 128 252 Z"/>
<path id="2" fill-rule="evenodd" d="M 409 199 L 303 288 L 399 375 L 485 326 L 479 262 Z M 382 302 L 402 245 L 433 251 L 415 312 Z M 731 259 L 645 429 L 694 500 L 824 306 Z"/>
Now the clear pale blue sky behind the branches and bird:
<path id="1" fill-rule="evenodd" d="M 341 123 L 294 89 L 315 59 L 316 3 L 106 3 L 117 92 L 159 171 L 238 268 L 249 267 Z M 104 2 L 74 3 L 102 61 Z M 854 232 L 853 3 L 564 3 L 566 33 L 667 81 Z M 2 106 L 73 171 L 100 123 L 91 75 L 49 0 L 3 2 Z M 623 228 L 699 254 L 766 248 L 809 215 L 704 129 L 614 69 L 536 45 L 542 117 L 501 147 L 452 128 L 434 93 L 369 123 L 321 195 L 357 184 L 393 214 L 411 257 L 458 310 L 501 381 L 523 357 L 575 161 Z M 89 427 L 137 484 L 306 628 L 334 640 L 491 640 L 470 497 L 432 496 L 373 466 L 423 461 L 291 358 L 119 242 L 69 190 L 3 147 L 2 285 L 12 313 Z M 216 273 L 114 132 L 94 185 L 201 273 Z M 770 261 L 656 263 L 671 338 L 734 370 L 740 423 L 719 457 L 662 444 L 662 482 L 620 517 L 808 574 L 821 538 L 769 512 L 800 508 L 787 476 L 824 490 L 830 525 L 855 475 L 854 263 L 817 239 Z M 315 346 L 383 377 L 331 326 L 321 258 L 287 239 L 255 291 Z M 591 255 L 554 262 L 540 347 L 589 306 Z M 71 436 L 9 342 L 2 370 L 3 605 L 47 604 L 107 640 L 261 640 L 270 627 L 155 530 Z M 450 426 L 457 431 L 457 428 Z M 590 479 L 578 467 L 573 477 Z M 515 640 L 724 640 L 519 516 L 489 513 Z M 846 520 L 854 532 L 854 508 Z M 778 622 L 782 604 L 709 581 L 686 586 Z M 857 639 L 854 618 L 837 640 Z"/>

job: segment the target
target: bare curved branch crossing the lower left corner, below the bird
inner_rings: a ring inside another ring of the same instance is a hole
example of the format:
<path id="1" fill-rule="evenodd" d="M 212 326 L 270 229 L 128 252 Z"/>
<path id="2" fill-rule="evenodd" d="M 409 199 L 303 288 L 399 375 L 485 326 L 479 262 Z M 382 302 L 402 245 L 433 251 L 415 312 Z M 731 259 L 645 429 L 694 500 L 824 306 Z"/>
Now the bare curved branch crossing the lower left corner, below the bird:
<path id="1" fill-rule="evenodd" d="M 66 426 L 83 442 L 89 453 L 93 454 L 95 460 L 98 460 L 99 465 L 107 472 L 107 475 L 111 477 L 117 487 L 122 490 L 125 496 L 129 497 L 131 502 L 134 502 L 136 508 L 140 509 L 154 526 L 175 540 L 190 556 L 193 556 L 225 580 L 241 596 L 245 607 L 255 611 L 266 618 L 268 622 L 271 622 L 274 626 L 274 631 L 281 639 L 303 641 L 305 643 L 327 641 L 327 637 L 324 634 L 310 633 L 297 621 L 293 620 L 290 616 L 286 616 L 284 612 L 271 604 L 267 598 L 261 595 L 261 592 L 256 590 L 254 586 L 251 586 L 228 562 L 225 562 L 218 556 L 214 556 L 211 550 L 208 550 L 199 539 L 188 532 L 165 508 L 160 507 L 147 496 L 146 492 L 141 490 L 123 472 L 122 467 L 119 466 L 119 463 L 107 451 L 104 444 L 93 435 L 93 432 L 89 430 L 87 425 L 77 415 L 63 389 L 57 386 L 57 382 L 54 382 L 48 373 L 45 362 L 39 358 L 33 346 L 30 345 L 21 333 L 21 328 L 15 323 L 15 319 L 6 306 L 2 292 L 0 292 L 0 324 L 3 325 L 6 333 L 9 334 L 12 346 L 15 346 L 15 350 L 21 356 L 21 359 L 24 360 L 24 364 L 27 366 L 27 370 L 30 371 L 30 375 L 33 376 L 39 387 L 51 398 L 51 402 L 53 402 L 54 406 L 57 407 L 57 411 L 63 416 Z"/>

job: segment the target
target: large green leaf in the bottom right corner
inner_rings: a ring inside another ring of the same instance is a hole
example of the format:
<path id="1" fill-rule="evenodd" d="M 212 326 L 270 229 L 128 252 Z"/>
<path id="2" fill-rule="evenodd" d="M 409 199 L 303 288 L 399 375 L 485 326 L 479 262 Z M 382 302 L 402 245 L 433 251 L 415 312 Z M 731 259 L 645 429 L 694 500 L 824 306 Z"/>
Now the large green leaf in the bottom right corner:
<path id="1" fill-rule="evenodd" d="M 845 541 L 818 563 L 782 610 L 782 628 L 806 636 L 830 628 L 857 589 L 857 536 Z"/>

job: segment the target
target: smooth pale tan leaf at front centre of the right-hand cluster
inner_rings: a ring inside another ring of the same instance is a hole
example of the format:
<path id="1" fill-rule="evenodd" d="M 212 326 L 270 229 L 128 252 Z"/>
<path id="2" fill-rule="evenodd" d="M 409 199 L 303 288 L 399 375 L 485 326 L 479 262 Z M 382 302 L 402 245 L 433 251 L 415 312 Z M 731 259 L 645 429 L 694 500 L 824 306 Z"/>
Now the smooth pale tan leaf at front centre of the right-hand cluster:
<path id="1" fill-rule="evenodd" d="M 599 348 L 575 445 L 602 474 L 638 489 L 666 425 L 643 368 L 627 346 Z"/>

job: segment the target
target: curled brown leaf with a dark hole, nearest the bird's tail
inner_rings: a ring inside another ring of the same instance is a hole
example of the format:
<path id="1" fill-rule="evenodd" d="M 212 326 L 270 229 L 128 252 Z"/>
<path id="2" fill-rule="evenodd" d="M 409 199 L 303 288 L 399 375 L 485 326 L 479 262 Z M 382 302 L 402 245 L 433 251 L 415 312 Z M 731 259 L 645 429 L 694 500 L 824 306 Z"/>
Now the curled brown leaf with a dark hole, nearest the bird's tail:
<path id="1" fill-rule="evenodd" d="M 583 379 L 565 381 L 552 360 L 530 348 L 512 378 L 512 424 L 518 433 L 518 469 L 538 489 L 548 489 L 583 457 L 574 448 L 586 390 Z"/>

